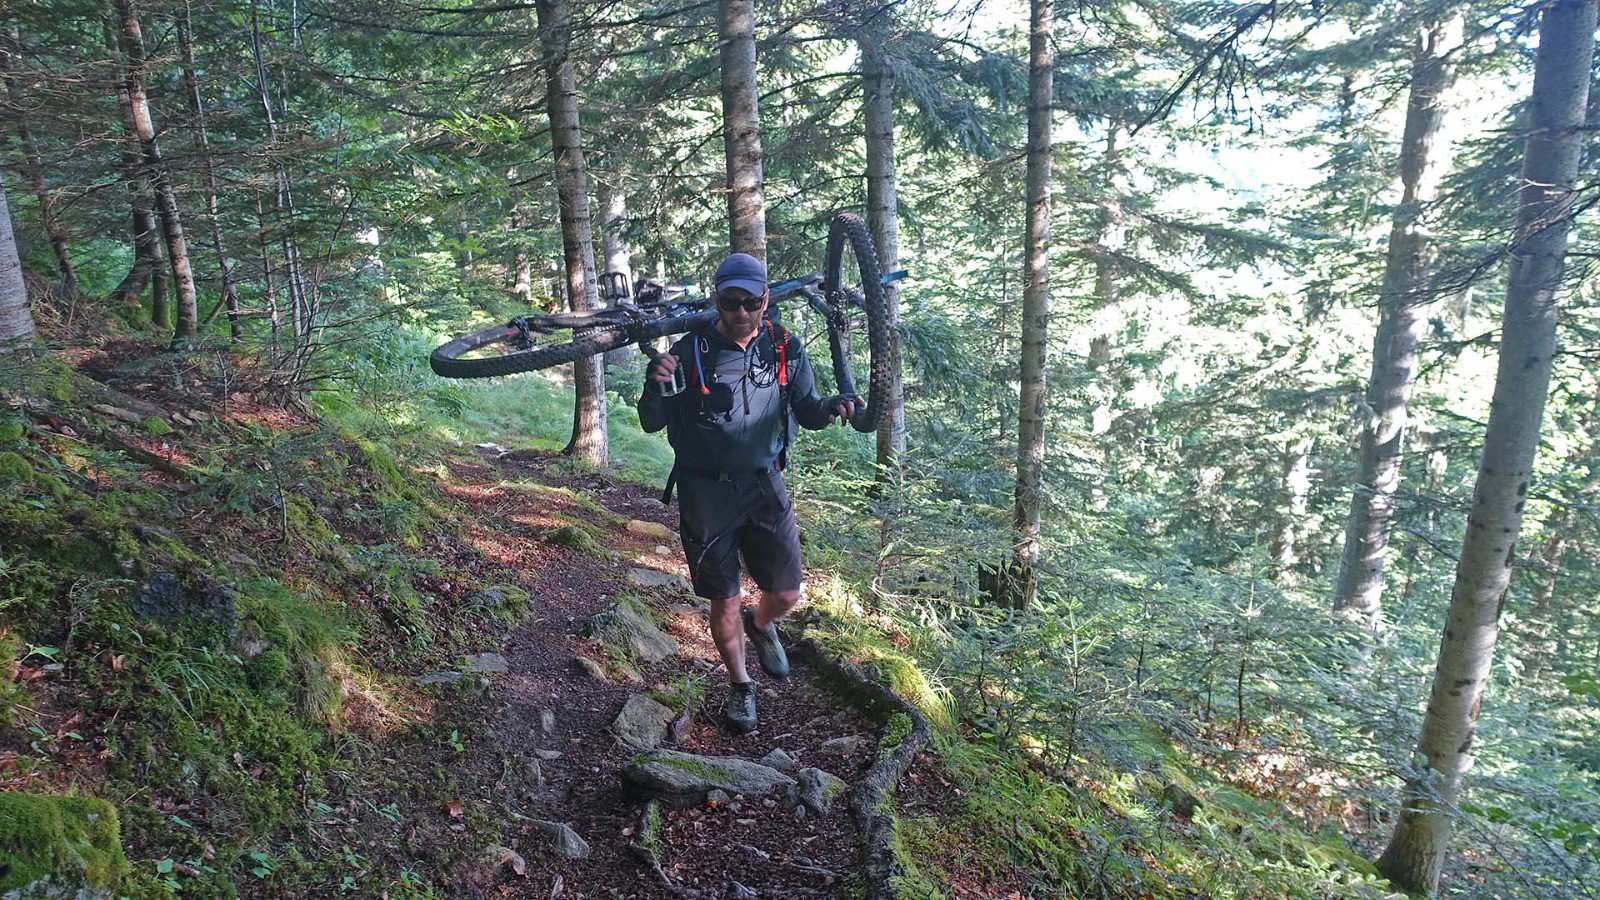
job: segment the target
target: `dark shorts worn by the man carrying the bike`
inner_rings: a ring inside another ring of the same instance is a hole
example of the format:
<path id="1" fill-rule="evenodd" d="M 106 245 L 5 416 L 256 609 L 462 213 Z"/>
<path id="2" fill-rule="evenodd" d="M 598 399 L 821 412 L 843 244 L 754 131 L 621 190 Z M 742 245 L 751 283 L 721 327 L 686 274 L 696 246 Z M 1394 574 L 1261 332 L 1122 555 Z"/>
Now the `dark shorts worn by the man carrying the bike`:
<path id="1" fill-rule="evenodd" d="M 739 596 L 739 554 L 763 591 L 800 589 L 800 527 L 779 472 L 678 471 L 678 528 L 694 593 Z"/>

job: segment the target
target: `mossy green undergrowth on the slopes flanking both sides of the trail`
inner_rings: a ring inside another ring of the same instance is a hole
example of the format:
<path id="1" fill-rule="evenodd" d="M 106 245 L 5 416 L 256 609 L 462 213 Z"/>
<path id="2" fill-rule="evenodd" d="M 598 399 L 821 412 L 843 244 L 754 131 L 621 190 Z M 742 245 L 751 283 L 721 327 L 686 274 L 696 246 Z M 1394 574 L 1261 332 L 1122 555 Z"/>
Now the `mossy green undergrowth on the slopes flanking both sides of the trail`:
<path id="1" fill-rule="evenodd" d="M 504 524 L 474 520 L 450 485 L 474 437 L 550 447 L 560 389 L 306 407 L 274 400 L 243 357 L 139 340 L 6 376 L 5 788 L 110 801 L 128 897 L 480 890 L 466 873 L 514 810 L 450 804 L 504 759 L 446 714 L 470 697 L 411 676 L 528 615 L 515 578 L 485 601 Z M 973 557 L 949 549 L 888 565 L 888 501 L 867 500 L 859 448 L 827 434 L 797 456 L 822 613 L 808 633 L 938 725 L 901 793 L 902 895 L 1379 890 L 1339 838 L 1366 815 L 1342 799 L 1350 773 L 1317 762 L 1285 711 L 1230 714 L 1234 676 L 1256 677 L 1243 663 L 1206 673 L 1197 719 L 1138 681 L 1112 689 L 1090 609 L 1058 593 L 1030 615 L 984 605 L 952 589 Z M 666 455 L 629 458 L 648 479 Z"/>

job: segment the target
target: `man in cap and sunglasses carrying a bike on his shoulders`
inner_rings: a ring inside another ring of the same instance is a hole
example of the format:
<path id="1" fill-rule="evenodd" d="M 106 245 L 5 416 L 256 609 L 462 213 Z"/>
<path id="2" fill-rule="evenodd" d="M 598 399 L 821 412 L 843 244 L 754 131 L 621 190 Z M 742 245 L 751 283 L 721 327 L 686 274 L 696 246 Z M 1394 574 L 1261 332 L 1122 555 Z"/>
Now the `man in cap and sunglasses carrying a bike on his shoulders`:
<path id="1" fill-rule="evenodd" d="M 746 636 L 766 674 L 789 676 L 774 623 L 800 601 L 800 530 L 782 477 L 790 420 L 818 431 L 835 418 L 850 421 L 861 400 L 818 399 L 805 348 L 765 317 L 765 263 L 749 253 L 723 259 L 712 299 L 717 323 L 651 362 L 638 423 L 651 432 L 666 428 L 677 456 L 683 556 L 694 593 L 710 601 L 710 636 L 728 666 L 723 722 L 742 733 L 755 729 Z M 664 396 L 675 373 L 683 389 Z M 741 599 L 741 554 L 760 588 L 754 610 Z"/>

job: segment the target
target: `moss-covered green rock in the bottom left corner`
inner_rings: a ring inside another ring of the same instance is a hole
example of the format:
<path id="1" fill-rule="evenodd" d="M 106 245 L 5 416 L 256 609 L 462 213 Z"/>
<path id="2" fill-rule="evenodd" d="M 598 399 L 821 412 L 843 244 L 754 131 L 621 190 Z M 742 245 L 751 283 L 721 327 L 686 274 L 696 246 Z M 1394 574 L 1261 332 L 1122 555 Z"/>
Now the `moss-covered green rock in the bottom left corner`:
<path id="1" fill-rule="evenodd" d="M 0 793 L 0 894 L 112 897 L 128 874 L 117 809 L 94 798 Z"/>

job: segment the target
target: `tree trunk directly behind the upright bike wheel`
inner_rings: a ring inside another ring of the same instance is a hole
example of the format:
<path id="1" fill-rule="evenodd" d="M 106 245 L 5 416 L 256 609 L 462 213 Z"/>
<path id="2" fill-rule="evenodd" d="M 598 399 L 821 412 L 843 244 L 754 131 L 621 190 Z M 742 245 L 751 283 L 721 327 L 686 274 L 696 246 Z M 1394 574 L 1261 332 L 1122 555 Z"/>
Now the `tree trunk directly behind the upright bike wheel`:
<path id="1" fill-rule="evenodd" d="M 885 13 L 886 14 L 886 13 Z M 899 269 L 899 197 L 894 189 L 894 75 L 883 64 L 882 43 L 890 27 L 861 40 L 861 82 L 867 127 L 867 227 L 878 247 L 878 267 Z M 899 477 L 906 456 L 906 384 L 901 381 L 899 287 L 886 285 L 890 325 L 890 397 L 878 424 L 878 480 Z"/>

